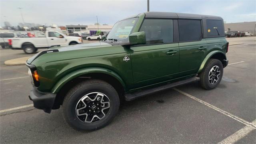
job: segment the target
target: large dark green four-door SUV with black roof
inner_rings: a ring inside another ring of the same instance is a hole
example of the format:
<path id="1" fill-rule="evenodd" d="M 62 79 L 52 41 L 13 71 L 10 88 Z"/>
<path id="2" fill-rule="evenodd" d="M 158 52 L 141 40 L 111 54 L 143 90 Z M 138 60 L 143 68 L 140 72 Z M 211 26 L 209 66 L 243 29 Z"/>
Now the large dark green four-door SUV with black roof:
<path id="1" fill-rule="evenodd" d="M 28 59 L 29 98 L 48 113 L 62 105 L 73 128 L 96 130 L 110 123 L 121 100 L 195 81 L 216 88 L 226 52 L 218 16 L 145 12 L 116 22 L 105 41 L 54 47 Z"/>

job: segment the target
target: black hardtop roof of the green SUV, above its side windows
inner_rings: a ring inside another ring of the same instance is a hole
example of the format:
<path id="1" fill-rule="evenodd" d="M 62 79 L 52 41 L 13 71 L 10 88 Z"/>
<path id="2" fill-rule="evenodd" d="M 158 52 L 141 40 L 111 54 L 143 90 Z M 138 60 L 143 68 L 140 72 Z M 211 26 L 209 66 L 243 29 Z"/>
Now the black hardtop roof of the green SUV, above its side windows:
<path id="1" fill-rule="evenodd" d="M 145 18 L 202 19 L 202 18 L 221 18 L 221 17 L 220 16 L 202 15 L 202 14 L 185 14 L 185 13 L 176 13 L 176 12 L 145 12 Z"/>

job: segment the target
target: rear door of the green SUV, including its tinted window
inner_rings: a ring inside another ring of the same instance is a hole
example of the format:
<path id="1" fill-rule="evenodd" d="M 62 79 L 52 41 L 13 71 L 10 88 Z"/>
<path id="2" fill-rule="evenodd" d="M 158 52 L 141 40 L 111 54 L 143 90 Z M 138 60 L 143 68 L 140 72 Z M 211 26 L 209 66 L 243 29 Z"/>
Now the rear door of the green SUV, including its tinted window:
<path id="1" fill-rule="evenodd" d="M 180 19 L 180 77 L 195 74 L 207 52 L 206 40 L 202 39 L 202 20 Z"/>

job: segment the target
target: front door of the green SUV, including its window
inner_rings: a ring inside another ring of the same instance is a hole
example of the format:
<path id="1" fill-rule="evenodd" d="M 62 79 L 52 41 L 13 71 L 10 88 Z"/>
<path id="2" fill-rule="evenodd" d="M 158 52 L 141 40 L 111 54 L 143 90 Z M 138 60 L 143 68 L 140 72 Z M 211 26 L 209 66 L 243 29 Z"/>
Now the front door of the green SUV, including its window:
<path id="1" fill-rule="evenodd" d="M 173 20 L 145 19 L 142 31 L 146 44 L 131 47 L 134 88 L 177 78 L 179 47 L 173 42 Z"/>

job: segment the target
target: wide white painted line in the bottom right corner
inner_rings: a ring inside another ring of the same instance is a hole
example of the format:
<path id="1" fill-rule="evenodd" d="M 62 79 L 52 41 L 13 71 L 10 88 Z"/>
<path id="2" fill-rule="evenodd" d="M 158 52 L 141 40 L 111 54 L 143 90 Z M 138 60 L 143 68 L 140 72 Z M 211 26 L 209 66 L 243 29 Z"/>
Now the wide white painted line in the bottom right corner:
<path id="1" fill-rule="evenodd" d="M 256 120 L 254 120 L 252 123 L 256 124 Z M 249 134 L 252 130 L 254 130 L 252 126 L 245 126 L 244 128 L 241 128 L 231 136 L 225 138 L 218 144 L 234 144 L 235 142 L 237 142 L 238 140 L 242 139 L 244 136 Z"/>

